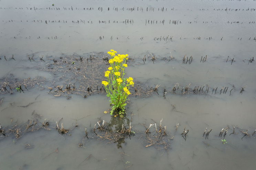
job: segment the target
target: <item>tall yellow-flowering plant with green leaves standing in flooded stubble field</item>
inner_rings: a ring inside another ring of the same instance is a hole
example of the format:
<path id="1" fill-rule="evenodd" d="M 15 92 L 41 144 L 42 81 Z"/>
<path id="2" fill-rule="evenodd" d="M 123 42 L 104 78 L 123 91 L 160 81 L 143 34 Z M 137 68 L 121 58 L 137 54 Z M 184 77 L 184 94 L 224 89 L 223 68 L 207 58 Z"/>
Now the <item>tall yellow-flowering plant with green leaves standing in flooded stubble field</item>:
<path id="1" fill-rule="evenodd" d="M 128 66 L 126 61 L 128 60 L 128 54 L 116 54 L 115 50 L 108 51 L 111 56 L 109 59 L 110 67 L 105 71 L 105 77 L 107 81 L 102 81 L 105 86 L 107 96 L 110 97 L 110 104 L 112 105 L 112 110 L 110 114 L 112 115 L 114 111 L 119 114 L 125 112 L 126 100 L 128 95 L 130 95 L 130 86 L 134 86 L 133 78 L 124 78 L 125 68 Z"/>

